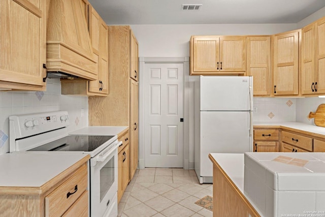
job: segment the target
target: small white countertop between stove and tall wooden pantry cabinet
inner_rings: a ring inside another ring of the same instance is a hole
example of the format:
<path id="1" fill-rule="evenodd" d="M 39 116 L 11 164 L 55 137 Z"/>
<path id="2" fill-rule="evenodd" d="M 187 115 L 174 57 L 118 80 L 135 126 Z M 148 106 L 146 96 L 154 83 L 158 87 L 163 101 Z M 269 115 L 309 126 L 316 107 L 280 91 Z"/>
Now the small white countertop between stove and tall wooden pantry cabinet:
<path id="1" fill-rule="evenodd" d="M 76 131 L 72 131 L 69 134 L 77 135 L 98 135 L 98 136 L 115 136 L 124 131 L 128 127 L 116 127 L 116 126 L 89 126 L 81 128 Z"/>

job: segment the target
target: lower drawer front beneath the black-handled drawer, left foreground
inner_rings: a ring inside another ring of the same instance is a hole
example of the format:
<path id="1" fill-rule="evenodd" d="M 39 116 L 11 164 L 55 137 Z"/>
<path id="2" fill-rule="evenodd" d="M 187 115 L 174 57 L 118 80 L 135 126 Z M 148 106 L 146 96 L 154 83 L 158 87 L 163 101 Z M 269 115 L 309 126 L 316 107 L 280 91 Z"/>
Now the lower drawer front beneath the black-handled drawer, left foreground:
<path id="1" fill-rule="evenodd" d="M 63 217 L 88 217 L 88 191 L 85 191 L 72 206 L 64 212 Z"/>

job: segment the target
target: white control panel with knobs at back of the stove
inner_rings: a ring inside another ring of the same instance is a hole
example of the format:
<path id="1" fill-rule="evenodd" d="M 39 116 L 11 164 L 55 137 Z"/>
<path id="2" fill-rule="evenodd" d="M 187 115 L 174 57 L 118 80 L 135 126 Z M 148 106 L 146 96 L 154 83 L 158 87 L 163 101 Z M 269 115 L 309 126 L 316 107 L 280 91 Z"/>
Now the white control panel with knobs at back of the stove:
<path id="1" fill-rule="evenodd" d="M 13 115 L 9 117 L 10 130 L 16 139 L 69 126 L 68 111 Z"/>

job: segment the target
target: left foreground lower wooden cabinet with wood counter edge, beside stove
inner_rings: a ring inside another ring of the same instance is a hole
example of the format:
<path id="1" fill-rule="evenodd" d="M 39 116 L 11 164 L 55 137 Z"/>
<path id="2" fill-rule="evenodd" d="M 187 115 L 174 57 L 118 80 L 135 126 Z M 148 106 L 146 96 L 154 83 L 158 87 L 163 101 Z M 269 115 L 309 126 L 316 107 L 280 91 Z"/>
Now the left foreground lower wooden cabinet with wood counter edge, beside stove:
<path id="1" fill-rule="evenodd" d="M 89 216 L 89 156 L 36 187 L 0 187 L 1 216 Z"/>

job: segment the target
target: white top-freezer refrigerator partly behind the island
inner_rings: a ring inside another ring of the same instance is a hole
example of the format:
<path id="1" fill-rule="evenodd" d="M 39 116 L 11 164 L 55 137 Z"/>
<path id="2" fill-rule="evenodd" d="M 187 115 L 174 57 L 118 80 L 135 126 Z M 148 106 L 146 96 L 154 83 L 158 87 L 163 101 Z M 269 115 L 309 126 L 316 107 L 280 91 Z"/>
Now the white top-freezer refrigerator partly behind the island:
<path id="1" fill-rule="evenodd" d="M 251 76 L 200 76 L 194 82 L 194 169 L 200 183 L 213 181 L 209 153 L 252 151 L 252 115 Z"/>

